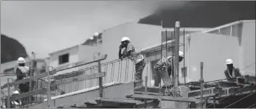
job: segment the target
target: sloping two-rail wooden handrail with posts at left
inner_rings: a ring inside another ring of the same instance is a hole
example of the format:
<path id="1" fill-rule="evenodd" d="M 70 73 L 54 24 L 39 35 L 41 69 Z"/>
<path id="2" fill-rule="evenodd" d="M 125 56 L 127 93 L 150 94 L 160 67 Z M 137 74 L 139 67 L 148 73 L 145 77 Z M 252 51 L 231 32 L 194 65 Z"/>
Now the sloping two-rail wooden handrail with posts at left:
<path id="1" fill-rule="evenodd" d="M 49 75 L 56 74 L 57 71 L 63 71 L 63 70 L 69 69 L 69 68 L 75 68 L 75 67 L 78 67 L 78 66 L 84 66 L 84 65 L 87 65 L 87 64 L 90 64 L 90 63 L 96 63 L 96 62 L 99 63 L 98 66 L 100 67 L 100 61 L 105 60 L 106 57 L 107 57 L 107 54 L 103 54 L 103 55 L 97 56 L 96 59 L 94 59 L 91 62 L 85 62 L 83 60 L 83 61 L 80 61 L 80 62 L 70 63 L 70 64 L 67 64 L 67 65 L 64 65 L 64 66 L 60 66 L 60 67 L 54 68 L 52 71 L 49 71 Z M 27 79 L 24 79 L 24 80 L 18 80 L 18 81 L 15 81 L 15 82 L 8 82 L 7 84 L 1 86 L 1 88 L 10 89 L 10 87 L 13 86 L 13 85 L 18 85 L 18 84 L 21 84 L 21 83 L 24 83 L 24 82 L 31 82 L 33 80 L 38 80 L 38 79 L 41 79 L 41 78 L 49 76 L 49 75 L 48 75 L 48 73 L 38 74 L 35 77 L 28 77 Z M 70 78 L 68 78 L 68 79 L 66 79 L 66 81 L 57 80 L 55 82 L 48 82 L 48 86 L 49 85 L 56 85 L 56 82 L 58 84 L 61 84 L 63 82 L 64 83 L 65 82 L 73 82 L 74 79 L 75 79 L 75 81 L 81 81 L 81 80 L 91 80 L 91 79 L 94 79 L 94 78 L 99 78 L 100 82 L 102 82 L 102 77 L 104 77 L 104 76 L 105 76 L 105 72 L 101 72 L 99 70 L 99 74 L 89 74 L 89 75 L 86 75 L 86 76 L 83 76 L 83 77 L 72 78 L 73 80 L 70 80 Z M 99 82 L 99 84 L 102 85 L 102 83 L 100 83 L 100 82 Z M 103 88 L 100 87 L 100 90 L 103 91 Z M 50 89 L 49 89 L 49 91 L 50 91 Z M 44 94 L 45 92 L 47 92 L 47 89 L 46 88 L 41 88 L 41 89 L 38 89 L 38 90 L 35 90 L 35 91 L 29 91 L 29 92 L 24 93 L 24 94 L 18 94 L 18 95 L 15 95 L 15 96 L 10 96 L 10 90 L 8 90 L 7 101 L 10 101 L 10 100 L 13 100 L 13 99 L 20 99 L 20 98 L 24 98 L 26 96 L 32 96 L 32 95 L 35 95 L 35 94 Z M 48 98 L 49 98 L 49 95 L 48 95 Z M 48 104 L 48 106 L 49 106 L 49 104 Z M 10 108 L 10 102 L 7 102 L 7 108 Z"/>

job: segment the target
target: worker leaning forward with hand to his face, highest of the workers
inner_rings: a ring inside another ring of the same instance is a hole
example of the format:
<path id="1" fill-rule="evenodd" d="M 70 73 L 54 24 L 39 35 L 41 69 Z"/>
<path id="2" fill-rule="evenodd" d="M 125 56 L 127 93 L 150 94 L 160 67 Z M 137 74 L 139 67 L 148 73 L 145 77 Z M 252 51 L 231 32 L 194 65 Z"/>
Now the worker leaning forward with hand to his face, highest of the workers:
<path id="1" fill-rule="evenodd" d="M 122 52 L 123 48 L 125 49 Z M 130 38 L 127 37 L 123 37 L 121 39 L 121 45 L 119 49 L 120 60 L 122 60 L 125 57 L 128 57 L 128 59 L 130 59 L 135 64 L 135 80 L 142 80 L 142 72 L 146 64 L 144 57 L 142 54 L 140 54 L 140 51 L 131 44 Z"/>

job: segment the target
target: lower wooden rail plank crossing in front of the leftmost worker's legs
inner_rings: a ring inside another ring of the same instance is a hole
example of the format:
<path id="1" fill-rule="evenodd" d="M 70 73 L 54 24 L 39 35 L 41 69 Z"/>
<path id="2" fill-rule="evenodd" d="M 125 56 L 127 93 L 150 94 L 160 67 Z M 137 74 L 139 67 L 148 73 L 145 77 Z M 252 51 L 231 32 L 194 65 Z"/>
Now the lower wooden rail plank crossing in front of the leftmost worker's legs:
<path id="1" fill-rule="evenodd" d="M 13 96 L 10 97 L 10 99 L 15 100 L 15 99 L 21 99 L 21 98 L 24 98 L 24 97 L 27 97 L 27 96 L 32 96 L 32 95 L 35 95 L 35 94 L 44 94 L 44 93 L 46 93 L 46 91 L 47 91 L 46 88 L 41 88 L 41 89 L 38 89 L 38 90 L 35 90 L 35 91 L 30 91 L 30 92 L 23 93 L 23 94 L 13 95 Z"/>

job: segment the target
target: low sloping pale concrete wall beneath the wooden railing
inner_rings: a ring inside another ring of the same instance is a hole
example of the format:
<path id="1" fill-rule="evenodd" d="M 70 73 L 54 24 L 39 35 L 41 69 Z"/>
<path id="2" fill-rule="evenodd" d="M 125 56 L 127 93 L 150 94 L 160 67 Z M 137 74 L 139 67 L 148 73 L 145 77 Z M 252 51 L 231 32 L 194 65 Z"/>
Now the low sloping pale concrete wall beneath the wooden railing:
<path id="1" fill-rule="evenodd" d="M 109 86 L 103 89 L 103 97 L 105 98 L 125 98 L 128 94 L 133 94 L 134 82 L 129 82 L 127 84 L 119 84 Z M 86 91 L 84 93 L 75 94 L 72 96 L 65 96 L 62 98 L 51 100 L 51 107 L 58 107 L 60 105 L 72 105 L 77 103 L 83 105 L 87 100 L 95 100 L 99 97 L 99 90 Z M 39 105 L 33 105 L 30 108 L 46 108 L 47 102 Z"/>

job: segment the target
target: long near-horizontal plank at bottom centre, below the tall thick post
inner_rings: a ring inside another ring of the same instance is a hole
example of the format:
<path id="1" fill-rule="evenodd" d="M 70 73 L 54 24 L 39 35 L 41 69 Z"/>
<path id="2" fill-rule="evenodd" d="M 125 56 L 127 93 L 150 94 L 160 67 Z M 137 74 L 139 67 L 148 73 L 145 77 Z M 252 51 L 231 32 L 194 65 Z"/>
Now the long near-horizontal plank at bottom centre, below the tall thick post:
<path id="1" fill-rule="evenodd" d="M 194 99 L 194 98 L 152 96 L 152 95 L 145 95 L 145 94 L 134 94 L 134 95 L 131 95 L 131 98 L 134 98 L 134 99 L 162 99 L 165 101 L 175 101 L 175 102 L 198 102 L 198 101 L 200 101 L 200 100 Z"/>

